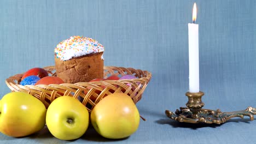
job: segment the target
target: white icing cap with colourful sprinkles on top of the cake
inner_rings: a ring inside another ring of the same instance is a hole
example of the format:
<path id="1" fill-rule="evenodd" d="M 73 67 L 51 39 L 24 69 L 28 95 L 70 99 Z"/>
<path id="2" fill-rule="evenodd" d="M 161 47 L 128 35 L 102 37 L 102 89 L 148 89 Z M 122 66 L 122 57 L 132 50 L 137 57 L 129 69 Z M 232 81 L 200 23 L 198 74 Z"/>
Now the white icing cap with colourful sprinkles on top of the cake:
<path id="1" fill-rule="evenodd" d="M 55 47 L 55 56 L 62 61 L 67 61 L 73 57 L 88 55 L 90 53 L 103 52 L 104 46 L 97 40 L 83 36 L 73 36 L 61 41 Z"/>

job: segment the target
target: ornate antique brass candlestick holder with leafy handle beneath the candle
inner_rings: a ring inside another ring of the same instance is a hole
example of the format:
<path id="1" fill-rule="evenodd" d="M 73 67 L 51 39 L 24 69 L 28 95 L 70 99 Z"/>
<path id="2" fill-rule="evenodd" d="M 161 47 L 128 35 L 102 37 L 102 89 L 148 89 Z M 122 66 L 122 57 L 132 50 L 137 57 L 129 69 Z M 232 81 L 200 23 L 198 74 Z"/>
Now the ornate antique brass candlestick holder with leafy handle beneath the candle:
<path id="1" fill-rule="evenodd" d="M 180 110 L 176 110 L 175 113 L 166 110 L 166 116 L 178 122 L 221 124 L 225 123 L 230 118 L 243 118 L 243 116 L 249 116 L 251 121 L 253 121 L 253 115 L 256 115 L 256 108 L 253 107 L 247 107 L 246 110 L 234 112 L 221 112 L 219 109 L 216 111 L 201 109 L 205 105 L 202 103 L 203 94 L 203 92 L 187 92 L 186 95 L 189 99 L 186 104 L 187 107 L 180 107 Z"/>

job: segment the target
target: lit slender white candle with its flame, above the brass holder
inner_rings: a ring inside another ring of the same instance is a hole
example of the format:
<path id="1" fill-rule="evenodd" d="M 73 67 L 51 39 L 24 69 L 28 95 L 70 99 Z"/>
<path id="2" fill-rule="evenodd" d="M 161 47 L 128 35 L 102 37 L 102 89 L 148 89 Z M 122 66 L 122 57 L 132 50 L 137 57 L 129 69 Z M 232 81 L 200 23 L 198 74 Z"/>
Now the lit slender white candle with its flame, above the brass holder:
<path id="1" fill-rule="evenodd" d="M 196 4 L 193 8 L 193 22 L 196 20 Z M 188 23 L 189 35 L 189 92 L 199 92 L 199 25 Z"/>

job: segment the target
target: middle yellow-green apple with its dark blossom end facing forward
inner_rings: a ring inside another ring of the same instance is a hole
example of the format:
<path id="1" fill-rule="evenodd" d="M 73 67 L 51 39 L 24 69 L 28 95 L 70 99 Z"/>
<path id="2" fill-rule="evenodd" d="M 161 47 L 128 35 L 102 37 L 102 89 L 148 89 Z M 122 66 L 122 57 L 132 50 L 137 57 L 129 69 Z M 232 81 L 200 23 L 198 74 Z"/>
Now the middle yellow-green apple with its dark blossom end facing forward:
<path id="1" fill-rule="evenodd" d="M 79 100 L 62 96 L 49 105 L 46 125 L 57 139 L 78 139 L 88 128 L 89 112 Z"/>

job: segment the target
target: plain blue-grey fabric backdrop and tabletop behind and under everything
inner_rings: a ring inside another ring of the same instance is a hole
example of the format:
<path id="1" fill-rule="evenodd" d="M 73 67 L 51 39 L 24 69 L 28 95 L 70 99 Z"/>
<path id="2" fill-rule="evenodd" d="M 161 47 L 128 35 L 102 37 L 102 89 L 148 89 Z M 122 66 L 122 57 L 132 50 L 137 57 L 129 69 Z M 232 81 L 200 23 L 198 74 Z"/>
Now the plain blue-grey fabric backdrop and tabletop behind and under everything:
<path id="1" fill-rule="evenodd" d="M 176 123 L 165 116 L 185 106 L 188 91 L 188 23 L 197 3 L 200 90 L 206 109 L 256 107 L 256 1 L 1 1 L 0 97 L 7 77 L 54 65 L 54 47 L 72 35 L 106 47 L 104 64 L 152 72 L 137 107 L 141 121 L 125 140 L 103 139 L 90 128 L 76 141 L 57 140 L 46 129 L 1 143 L 255 143 L 256 122 L 222 125 Z"/>

